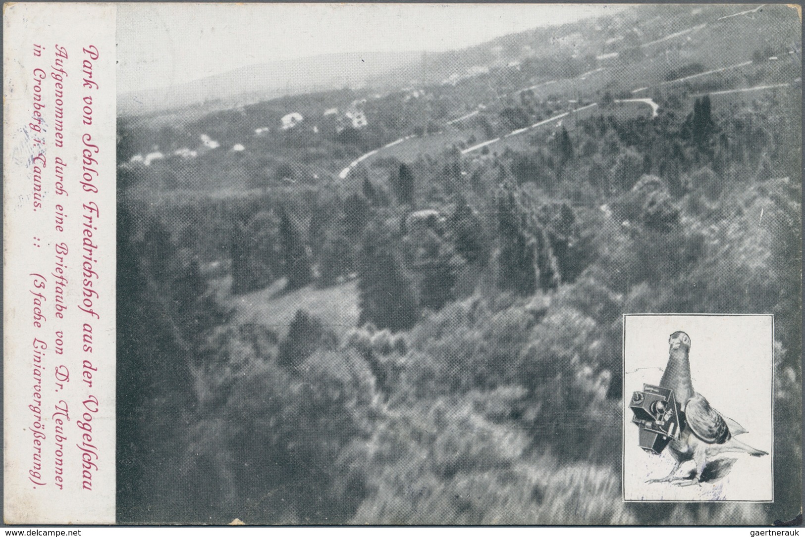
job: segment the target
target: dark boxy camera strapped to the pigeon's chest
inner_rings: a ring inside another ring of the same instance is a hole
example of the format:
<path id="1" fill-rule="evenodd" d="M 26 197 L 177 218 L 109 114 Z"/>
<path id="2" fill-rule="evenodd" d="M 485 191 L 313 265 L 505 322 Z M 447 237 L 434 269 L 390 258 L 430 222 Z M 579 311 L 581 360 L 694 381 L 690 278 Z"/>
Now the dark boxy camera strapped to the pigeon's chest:
<path id="1" fill-rule="evenodd" d="M 640 428 L 640 447 L 646 452 L 658 455 L 671 440 L 679 440 L 684 414 L 673 390 L 643 384 L 642 391 L 632 394 L 629 408 L 634 412 L 632 423 Z"/>

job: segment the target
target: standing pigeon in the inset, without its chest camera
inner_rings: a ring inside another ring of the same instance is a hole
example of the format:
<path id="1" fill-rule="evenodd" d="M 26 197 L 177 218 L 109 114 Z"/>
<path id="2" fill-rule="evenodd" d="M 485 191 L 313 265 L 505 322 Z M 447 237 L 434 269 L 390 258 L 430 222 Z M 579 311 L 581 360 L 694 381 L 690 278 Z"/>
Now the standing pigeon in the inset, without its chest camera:
<path id="1" fill-rule="evenodd" d="M 768 455 L 765 451 L 755 449 L 734 437 L 746 432 L 737 421 L 724 416 L 712 408 L 708 400 L 700 393 L 693 391 L 691 382 L 691 364 L 688 358 L 691 350 L 691 338 L 682 331 L 671 334 L 668 364 L 660 379 L 660 387 L 674 391 L 679 408 L 684 413 L 687 426 L 678 440 L 672 440 L 668 452 L 674 457 L 676 464 L 666 477 L 651 479 L 648 482 L 679 482 L 679 485 L 690 486 L 704 481 L 707 477 L 705 468 L 721 453 L 749 453 L 753 457 Z M 682 477 L 675 474 L 684 462 L 694 461 L 693 473 Z M 723 475 L 721 476 L 723 477 Z"/>

